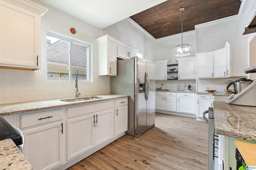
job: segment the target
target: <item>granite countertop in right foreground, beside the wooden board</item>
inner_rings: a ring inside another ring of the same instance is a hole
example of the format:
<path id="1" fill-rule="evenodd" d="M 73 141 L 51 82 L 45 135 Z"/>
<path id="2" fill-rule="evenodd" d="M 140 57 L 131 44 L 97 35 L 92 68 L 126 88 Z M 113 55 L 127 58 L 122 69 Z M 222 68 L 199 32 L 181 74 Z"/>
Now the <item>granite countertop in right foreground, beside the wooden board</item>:
<path id="1" fill-rule="evenodd" d="M 216 133 L 256 141 L 256 107 L 213 102 Z"/>

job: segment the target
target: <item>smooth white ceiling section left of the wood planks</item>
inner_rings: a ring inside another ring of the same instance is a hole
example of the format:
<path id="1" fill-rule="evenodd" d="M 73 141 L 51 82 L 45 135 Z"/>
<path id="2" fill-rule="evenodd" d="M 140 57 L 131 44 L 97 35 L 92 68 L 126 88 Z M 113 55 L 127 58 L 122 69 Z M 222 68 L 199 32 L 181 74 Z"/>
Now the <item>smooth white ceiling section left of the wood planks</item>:
<path id="1" fill-rule="evenodd" d="M 99 29 L 166 0 L 39 0 Z"/>

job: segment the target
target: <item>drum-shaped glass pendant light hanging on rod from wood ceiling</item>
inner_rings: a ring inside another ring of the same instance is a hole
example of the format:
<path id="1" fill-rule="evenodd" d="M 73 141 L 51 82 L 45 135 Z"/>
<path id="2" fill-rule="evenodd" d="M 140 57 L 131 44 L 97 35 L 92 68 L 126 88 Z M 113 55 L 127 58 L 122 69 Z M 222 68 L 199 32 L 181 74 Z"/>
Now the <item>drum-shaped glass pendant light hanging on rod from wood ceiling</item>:
<path id="1" fill-rule="evenodd" d="M 191 46 L 189 44 L 183 44 L 183 10 L 185 10 L 184 7 L 180 8 L 181 11 L 181 45 L 175 46 L 175 56 L 185 56 L 185 55 L 190 55 L 191 51 Z"/>

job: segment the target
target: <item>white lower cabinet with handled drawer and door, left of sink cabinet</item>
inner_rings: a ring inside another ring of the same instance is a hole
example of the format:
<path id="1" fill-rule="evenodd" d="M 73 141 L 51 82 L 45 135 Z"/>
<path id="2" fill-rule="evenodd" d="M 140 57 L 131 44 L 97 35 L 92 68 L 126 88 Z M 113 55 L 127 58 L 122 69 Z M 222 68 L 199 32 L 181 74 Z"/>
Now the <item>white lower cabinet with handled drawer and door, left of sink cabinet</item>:
<path id="1" fill-rule="evenodd" d="M 50 170 L 64 162 L 62 116 L 62 109 L 20 116 L 22 153 L 34 170 Z"/>

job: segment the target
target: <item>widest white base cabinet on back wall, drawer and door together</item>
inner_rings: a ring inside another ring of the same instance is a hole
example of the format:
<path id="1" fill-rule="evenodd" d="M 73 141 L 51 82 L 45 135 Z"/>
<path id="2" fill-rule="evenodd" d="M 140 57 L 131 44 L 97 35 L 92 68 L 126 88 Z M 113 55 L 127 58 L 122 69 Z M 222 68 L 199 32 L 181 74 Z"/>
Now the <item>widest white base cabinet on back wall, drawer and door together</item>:
<path id="1" fill-rule="evenodd" d="M 177 112 L 196 114 L 194 93 L 177 94 Z"/>

